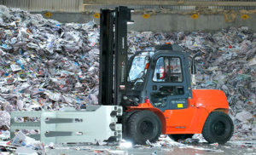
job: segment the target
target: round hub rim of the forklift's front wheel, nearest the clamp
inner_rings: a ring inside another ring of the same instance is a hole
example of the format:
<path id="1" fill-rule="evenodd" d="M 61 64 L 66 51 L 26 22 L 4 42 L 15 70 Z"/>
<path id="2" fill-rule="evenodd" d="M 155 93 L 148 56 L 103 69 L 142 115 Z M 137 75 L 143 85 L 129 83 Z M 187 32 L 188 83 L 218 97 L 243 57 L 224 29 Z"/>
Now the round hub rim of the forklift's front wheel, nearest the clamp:
<path id="1" fill-rule="evenodd" d="M 143 120 L 139 125 L 139 131 L 143 137 L 154 135 L 154 123 L 150 120 Z"/>

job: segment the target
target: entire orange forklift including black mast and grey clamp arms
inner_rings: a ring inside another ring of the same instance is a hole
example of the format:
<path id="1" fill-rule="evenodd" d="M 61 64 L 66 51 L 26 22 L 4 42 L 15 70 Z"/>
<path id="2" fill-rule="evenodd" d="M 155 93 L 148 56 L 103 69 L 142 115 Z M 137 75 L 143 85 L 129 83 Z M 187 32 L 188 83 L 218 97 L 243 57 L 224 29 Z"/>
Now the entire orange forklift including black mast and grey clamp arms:
<path id="1" fill-rule="evenodd" d="M 192 89 L 195 55 L 175 44 L 130 55 L 127 25 L 132 9 L 101 9 L 99 106 L 85 111 L 12 112 L 11 136 L 16 129 L 41 129 L 33 137 L 48 142 L 155 142 L 160 135 L 184 140 L 202 134 L 209 143 L 224 144 L 234 131 L 229 103 L 218 89 Z M 191 69 L 189 69 L 191 68 Z M 189 72 L 190 70 L 190 72 Z M 191 74 L 191 75 L 190 75 Z M 15 117 L 37 117 L 17 123 Z"/>

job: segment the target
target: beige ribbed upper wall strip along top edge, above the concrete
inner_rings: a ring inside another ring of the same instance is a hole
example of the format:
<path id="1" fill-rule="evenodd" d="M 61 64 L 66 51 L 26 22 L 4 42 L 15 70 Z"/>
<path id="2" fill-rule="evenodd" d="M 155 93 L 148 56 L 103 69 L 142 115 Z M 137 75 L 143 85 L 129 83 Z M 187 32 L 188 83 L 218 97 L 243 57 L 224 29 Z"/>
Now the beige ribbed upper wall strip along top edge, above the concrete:
<path id="1" fill-rule="evenodd" d="M 230 2 L 231 1 L 231 2 Z M 86 4 L 87 5 L 83 5 Z M 86 12 L 105 8 L 114 9 L 122 5 L 132 9 L 172 9 L 179 11 L 195 10 L 196 6 L 209 9 L 241 10 L 256 9 L 255 0 L 0 0 L 11 8 L 27 11 Z"/>

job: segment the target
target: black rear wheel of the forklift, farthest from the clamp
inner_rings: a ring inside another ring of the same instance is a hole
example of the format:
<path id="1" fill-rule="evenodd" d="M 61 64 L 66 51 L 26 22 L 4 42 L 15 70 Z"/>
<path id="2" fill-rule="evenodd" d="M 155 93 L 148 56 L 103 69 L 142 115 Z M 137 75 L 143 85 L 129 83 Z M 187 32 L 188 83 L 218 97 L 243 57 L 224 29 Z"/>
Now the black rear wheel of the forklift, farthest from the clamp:
<path id="1" fill-rule="evenodd" d="M 234 132 L 234 123 L 229 115 L 224 112 L 209 114 L 202 135 L 209 143 L 224 144 L 230 140 Z"/>

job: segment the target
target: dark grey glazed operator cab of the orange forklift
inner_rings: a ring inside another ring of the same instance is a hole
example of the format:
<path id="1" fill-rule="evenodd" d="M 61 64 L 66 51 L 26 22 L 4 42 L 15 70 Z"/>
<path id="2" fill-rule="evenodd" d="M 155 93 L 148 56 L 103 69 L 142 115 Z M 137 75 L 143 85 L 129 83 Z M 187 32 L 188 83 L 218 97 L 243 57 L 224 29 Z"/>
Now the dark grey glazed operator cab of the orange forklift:
<path id="1" fill-rule="evenodd" d="M 126 104 L 150 100 L 161 111 L 183 109 L 191 97 L 188 55 L 177 45 L 157 45 L 138 52 L 128 61 Z"/>

